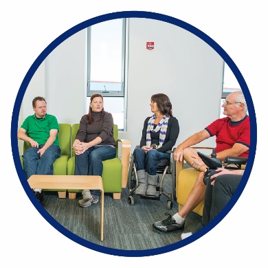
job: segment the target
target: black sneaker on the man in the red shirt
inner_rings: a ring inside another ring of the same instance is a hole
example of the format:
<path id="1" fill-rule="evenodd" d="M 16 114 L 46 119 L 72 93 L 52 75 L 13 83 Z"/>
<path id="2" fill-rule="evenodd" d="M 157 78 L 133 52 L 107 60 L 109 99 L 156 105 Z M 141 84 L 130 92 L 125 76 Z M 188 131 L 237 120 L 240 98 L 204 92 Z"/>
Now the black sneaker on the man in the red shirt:
<path id="1" fill-rule="evenodd" d="M 153 228 L 159 234 L 168 234 L 170 232 L 181 232 L 184 229 L 184 223 L 176 223 L 175 219 L 168 212 L 165 213 L 168 216 L 168 219 L 163 221 L 157 221 L 153 223 Z"/>

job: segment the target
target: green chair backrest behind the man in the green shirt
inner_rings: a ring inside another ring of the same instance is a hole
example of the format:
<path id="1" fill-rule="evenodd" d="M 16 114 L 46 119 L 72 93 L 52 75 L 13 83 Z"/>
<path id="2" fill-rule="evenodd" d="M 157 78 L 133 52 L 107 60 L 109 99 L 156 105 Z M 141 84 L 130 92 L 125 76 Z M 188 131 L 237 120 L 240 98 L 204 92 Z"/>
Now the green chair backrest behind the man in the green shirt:
<path id="1" fill-rule="evenodd" d="M 60 155 L 71 157 L 71 124 L 59 124 L 58 141 L 60 142 Z M 23 143 L 23 153 L 30 148 L 29 142 Z"/>

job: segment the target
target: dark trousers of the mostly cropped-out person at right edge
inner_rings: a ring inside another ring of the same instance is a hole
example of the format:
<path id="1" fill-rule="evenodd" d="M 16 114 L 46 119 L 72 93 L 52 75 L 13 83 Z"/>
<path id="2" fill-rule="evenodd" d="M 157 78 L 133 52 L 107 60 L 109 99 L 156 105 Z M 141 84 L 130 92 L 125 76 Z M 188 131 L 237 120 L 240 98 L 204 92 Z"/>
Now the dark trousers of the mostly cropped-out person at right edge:
<path id="1" fill-rule="evenodd" d="M 215 174 L 214 171 L 210 176 Z M 208 180 L 207 188 L 205 189 L 205 203 L 203 208 L 202 224 L 207 225 L 223 210 L 225 205 L 230 201 L 242 175 L 220 175 L 216 177 L 214 186 L 211 185 L 211 179 Z"/>

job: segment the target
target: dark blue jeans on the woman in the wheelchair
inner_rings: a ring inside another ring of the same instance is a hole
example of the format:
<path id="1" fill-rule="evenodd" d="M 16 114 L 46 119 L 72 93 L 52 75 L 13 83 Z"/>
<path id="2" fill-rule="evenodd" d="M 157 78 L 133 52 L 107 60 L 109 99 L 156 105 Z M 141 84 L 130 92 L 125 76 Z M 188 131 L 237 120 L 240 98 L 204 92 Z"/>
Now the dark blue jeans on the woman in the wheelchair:
<path id="1" fill-rule="evenodd" d="M 137 170 L 145 170 L 149 175 L 157 175 L 158 161 L 170 160 L 170 153 L 161 153 L 158 150 L 149 150 L 147 153 L 142 148 L 135 148 L 133 152 L 134 163 Z"/>

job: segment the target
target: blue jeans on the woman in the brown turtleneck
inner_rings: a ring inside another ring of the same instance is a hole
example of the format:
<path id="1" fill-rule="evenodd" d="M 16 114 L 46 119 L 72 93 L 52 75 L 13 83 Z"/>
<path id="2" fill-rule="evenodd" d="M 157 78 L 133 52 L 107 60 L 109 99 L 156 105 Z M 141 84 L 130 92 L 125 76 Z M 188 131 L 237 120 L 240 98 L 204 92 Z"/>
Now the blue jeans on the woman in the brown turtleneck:
<path id="1" fill-rule="evenodd" d="M 116 150 L 112 146 L 93 146 L 82 155 L 76 155 L 74 175 L 102 176 L 102 161 L 115 158 Z M 100 195 L 100 190 L 91 190 L 92 194 Z"/>

